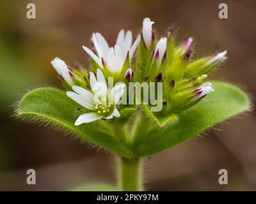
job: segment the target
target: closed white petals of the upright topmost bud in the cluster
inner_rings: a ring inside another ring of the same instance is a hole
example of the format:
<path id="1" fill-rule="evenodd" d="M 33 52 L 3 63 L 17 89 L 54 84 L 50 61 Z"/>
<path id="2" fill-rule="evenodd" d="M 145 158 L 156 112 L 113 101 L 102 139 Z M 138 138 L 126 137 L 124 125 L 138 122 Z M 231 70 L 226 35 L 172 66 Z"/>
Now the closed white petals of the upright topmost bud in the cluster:
<path id="1" fill-rule="evenodd" d="M 148 49 L 150 49 L 154 40 L 154 33 L 152 31 L 153 24 L 154 22 L 151 21 L 150 18 L 143 19 L 142 38 Z"/>

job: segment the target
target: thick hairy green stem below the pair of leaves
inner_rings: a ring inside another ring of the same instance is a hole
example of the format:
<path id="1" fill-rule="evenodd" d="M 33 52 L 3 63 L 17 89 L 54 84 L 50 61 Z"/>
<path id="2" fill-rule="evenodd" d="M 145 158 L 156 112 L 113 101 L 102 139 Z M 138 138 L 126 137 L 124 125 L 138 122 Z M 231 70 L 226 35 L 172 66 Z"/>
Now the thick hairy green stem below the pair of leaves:
<path id="1" fill-rule="evenodd" d="M 121 191 L 143 191 L 142 158 L 118 157 L 118 185 Z"/>

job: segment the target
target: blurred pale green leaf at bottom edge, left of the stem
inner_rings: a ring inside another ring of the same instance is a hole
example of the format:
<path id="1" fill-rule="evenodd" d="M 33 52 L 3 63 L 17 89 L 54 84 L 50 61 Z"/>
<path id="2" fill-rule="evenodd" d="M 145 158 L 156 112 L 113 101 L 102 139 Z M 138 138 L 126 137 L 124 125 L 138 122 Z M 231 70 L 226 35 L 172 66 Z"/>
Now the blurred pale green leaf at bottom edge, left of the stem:
<path id="1" fill-rule="evenodd" d="M 117 188 L 108 184 L 86 184 L 84 186 L 74 187 L 71 191 L 117 191 Z"/>

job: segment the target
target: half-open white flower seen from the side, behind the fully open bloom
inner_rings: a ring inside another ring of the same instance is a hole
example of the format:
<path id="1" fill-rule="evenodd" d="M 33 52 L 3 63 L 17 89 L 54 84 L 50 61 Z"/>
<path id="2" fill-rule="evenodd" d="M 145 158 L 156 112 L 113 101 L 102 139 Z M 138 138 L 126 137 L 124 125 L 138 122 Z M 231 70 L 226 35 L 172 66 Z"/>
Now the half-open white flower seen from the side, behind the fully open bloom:
<path id="1" fill-rule="evenodd" d="M 97 51 L 97 55 L 95 55 L 88 47 L 83 46 L 87 54 L 97 62 L 100 68 L 103 69 L 104 66 L 106 66 L 111 73 L 120 73 L 127 57 L 129 58 L 129 61 L 131 61 L 132 56 L 140 43 L 140 35 L 138 35 L 132 45 L 131 31 L 127 31 L 125 34 L 124 30 L 122 30 L 118 33 L 116 45 L 110 48 L 108 42 L 100 33 L 93 33 L 92 41 Z"/>

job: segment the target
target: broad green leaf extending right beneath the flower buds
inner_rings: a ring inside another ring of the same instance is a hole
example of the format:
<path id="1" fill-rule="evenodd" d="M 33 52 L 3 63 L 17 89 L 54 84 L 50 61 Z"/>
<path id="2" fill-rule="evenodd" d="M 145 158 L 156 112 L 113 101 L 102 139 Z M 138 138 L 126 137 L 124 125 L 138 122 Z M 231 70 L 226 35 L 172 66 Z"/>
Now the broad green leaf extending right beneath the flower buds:
<path id="1" fill-rule="evenodd" d="M 147 156 L 186 142 L 206 129 L 250 110 L 246 94 L 234 85 L 212 82 L 214 92 L 180 115 L 171 128 L 153 129 L 143 137 L 136 149 L 138 156 Z"/>

